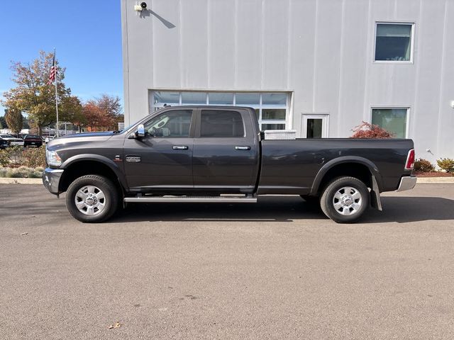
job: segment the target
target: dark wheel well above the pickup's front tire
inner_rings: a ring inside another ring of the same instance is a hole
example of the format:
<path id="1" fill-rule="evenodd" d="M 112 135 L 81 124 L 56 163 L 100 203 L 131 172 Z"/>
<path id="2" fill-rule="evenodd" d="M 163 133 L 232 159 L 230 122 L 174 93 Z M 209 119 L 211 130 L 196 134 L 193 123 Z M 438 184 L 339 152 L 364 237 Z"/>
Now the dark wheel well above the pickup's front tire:
<path id="1" fill-rule="evenodd" d="M 121 186 L 114 170 L 106 164 L 96 161 L 79 161 L 68 166 L 63 171 L 62 178 L 60 179 L 59 191 L 61 193 L 67 191 L 67 188 L 75 179 L 85 175 L 104 176 L 117 186 L 118 192 L 123 192 L 123 186 Z"/>

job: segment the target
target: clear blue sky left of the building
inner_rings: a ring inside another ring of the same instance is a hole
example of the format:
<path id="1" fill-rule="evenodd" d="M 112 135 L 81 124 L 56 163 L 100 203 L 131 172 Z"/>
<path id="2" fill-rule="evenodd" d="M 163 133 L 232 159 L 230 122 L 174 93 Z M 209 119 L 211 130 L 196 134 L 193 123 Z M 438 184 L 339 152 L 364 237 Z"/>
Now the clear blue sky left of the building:
<path id="1" fill-rule="evenodd" d="M 120 6 L 120 0 L 1 0 L 0 98 L 14 86 L 12 60 L 31 62 L 55 47 L 72 94 L 123 102 Z"/>

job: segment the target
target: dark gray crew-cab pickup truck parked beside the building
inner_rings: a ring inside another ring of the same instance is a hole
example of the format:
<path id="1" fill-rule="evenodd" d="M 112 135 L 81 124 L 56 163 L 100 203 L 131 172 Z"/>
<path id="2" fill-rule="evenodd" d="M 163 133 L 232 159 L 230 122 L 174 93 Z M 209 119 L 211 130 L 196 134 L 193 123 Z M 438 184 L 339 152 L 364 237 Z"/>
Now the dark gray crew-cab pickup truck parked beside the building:
<path id="1" fill-rule="evenodd" d="M 336 222 L 381 210 L 380 193 L 414 188 L 412 140 L 265 140 L 253 108 L 179 106 L 121 132 L 84 133 L 46 147 L 43 183 L 66 193 L 82 222 L 126 203 L 255 203 L 299 195 Z"/>

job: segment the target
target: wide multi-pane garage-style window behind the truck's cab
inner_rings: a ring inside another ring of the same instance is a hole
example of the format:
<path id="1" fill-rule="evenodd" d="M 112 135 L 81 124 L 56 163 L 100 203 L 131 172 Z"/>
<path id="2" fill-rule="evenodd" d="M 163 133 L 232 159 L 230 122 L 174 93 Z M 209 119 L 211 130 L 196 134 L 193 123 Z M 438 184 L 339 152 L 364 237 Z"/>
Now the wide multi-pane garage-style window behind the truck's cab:
<path id="1" fill-rule="evenodd" d="M 287 92 L 150 91 L 150 111 L 164 106 L 225 105 L 255 108 L 260 130 L 289 129 L 290 94 Z"/>

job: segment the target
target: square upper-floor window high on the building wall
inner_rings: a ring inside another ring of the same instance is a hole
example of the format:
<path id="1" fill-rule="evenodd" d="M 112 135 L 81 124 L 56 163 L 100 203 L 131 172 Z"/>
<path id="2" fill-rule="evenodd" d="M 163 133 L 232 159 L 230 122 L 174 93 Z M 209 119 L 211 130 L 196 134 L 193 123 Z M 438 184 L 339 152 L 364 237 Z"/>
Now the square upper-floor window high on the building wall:
<path id="1" fill-rule="evenodd" d="M 375 62 L 413 62 L 413 23 L 377 23 Z"/>

